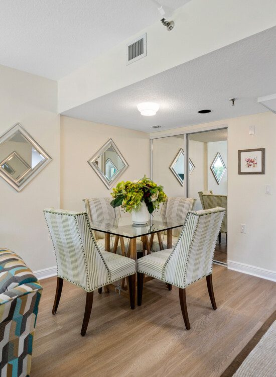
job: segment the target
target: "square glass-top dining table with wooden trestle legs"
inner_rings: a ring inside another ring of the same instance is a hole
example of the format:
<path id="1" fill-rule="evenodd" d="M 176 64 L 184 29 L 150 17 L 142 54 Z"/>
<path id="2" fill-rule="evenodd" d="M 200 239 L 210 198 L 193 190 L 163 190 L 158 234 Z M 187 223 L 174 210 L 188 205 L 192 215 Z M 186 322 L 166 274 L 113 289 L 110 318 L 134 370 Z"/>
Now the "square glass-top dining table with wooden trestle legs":
<path id="1" fill-rule="evenodd" d="M 136 239 L 141 237 L 144 248 L 151 252 L 154 235 L 157 233 L 160 249 L 163 249 L 161 232 L 167 231 L 167 247 L 172 247 L 172 237 L 174 228 L 182 227 L 185 219 L 176 219 L 167 216 L 150 216 L 150 220 L 145 225 L 134 225 L 131 217 L 120 217 L 93 221 L 90 223 L 91 229 L 105 233 L 105 250 L 110 251 L 110 235 L 115 236 L 113 252 L 116 252 L 118 241 L 120 240 L 122 255 L 129 256 L 136 260 Z M 150 239 L 149 239 L 149 236 Z M 123 238 L 129 239 L 127 250 Z"/>

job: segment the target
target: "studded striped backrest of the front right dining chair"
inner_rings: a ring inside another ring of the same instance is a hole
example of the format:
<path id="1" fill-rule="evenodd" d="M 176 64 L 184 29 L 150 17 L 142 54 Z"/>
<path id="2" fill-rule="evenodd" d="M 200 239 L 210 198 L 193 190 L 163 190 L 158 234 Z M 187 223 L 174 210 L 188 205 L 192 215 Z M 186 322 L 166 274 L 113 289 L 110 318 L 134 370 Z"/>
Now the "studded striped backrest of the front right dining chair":
<path id="1" fill-rule="evenodd" d="M 179 240 L 165 263 L 163 278 L 179 288 L 212 273 L 224 208 L 189 211 Z"/>

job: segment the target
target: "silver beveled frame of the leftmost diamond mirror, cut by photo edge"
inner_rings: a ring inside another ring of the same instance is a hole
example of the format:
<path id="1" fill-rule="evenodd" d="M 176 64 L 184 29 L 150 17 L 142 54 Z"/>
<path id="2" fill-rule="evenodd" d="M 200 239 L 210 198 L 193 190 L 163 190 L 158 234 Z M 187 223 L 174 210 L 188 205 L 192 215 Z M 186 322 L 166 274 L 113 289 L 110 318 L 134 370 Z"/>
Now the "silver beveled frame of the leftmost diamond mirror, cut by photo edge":
<path id="1" fill-rule="evenodd" d="M 0 169 L 0 176 L 4 180 L 6 180 L 6 182 L 8 182 L 12 187 L 14 187 L 16 191 L 20 192 L 26 186 L 26 184 L 28 184 L 46 165 L 48 165 L 49 162 L 52 161 L 52 157 L 50 157 L 49 154 L 45 152 L 45 150 L 35 141 L 35 139 L 32 138 L 32 136 L 25 130 L 25 128 L 22 127 L 20 123 L 16 123 L 13 127 L 11 127 L 8 131 L 0 136 L 0 147 L 17 131 L 19 131 L 29 141 L 29 143 L 31 143 L 33 147 L 45 158 L 45 160 L 42 163 L 39 163 L 37 167 L 31 169 L 33 170 L 32 174 L 20 184 L 18 184 L 14 179 L 6 174 L 3 169 Z M 5 162 L 6 159 L 7 157 L 2 162 Z M 29 171 L 25 172 L 25 174 L 29 173 Z"/>

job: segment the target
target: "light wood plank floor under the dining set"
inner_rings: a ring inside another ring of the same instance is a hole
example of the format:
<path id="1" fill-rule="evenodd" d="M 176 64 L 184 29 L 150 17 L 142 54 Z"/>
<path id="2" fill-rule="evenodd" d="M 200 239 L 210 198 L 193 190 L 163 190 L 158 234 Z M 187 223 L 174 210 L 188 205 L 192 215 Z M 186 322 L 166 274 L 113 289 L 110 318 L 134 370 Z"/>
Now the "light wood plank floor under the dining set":
<path id="1" fill-rule="evenodd" d="M 185 330 L 178 289 L 147 282 L 143 305 L 131 311 L 113 292 L 98 295 L 85 337 L 85 292 L 64 282 L 51 314 L 56 278 L 42 280 L 32 377 L 219 376 L 276 309 L 276 284 L 214 265 L 218 309 L 202 279 L 187 288 L 191 330 Z"/>

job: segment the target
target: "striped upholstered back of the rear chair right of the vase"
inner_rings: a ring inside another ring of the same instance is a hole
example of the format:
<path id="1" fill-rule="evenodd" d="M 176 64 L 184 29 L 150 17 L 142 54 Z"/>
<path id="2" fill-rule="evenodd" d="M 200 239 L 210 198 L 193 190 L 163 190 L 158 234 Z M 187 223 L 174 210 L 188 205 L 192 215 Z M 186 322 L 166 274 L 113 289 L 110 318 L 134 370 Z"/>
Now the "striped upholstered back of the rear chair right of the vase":
<path id="1" fill-rule="evenodd" d="M 161 208 L 161 216 L 185 219 L 189 211 L 193 211 L 196 200 L 193 198 L 168 198 L 166 204 Z M 167 233 L 167 232 L 162 232 Z M 173 237 L 179 237 L 181 228 L 173 229 Z"/>

